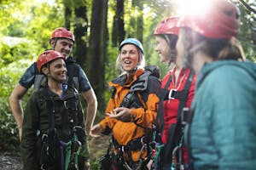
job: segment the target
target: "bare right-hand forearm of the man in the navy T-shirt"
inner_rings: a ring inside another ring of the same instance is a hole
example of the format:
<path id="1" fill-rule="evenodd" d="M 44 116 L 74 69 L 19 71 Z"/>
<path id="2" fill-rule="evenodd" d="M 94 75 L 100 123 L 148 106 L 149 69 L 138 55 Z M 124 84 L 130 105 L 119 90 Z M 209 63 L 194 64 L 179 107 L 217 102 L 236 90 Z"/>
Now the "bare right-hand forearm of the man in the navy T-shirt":
<path id="1" fill-rule="evenodd" d="M 98 105 L 96 94 L 94 93 L 94 90 L 92 88 L 90 88 L 90 90 L 87 90 L 86 92 L 83 92 L 82 94 L 87 102 L 85 129 L 87 134 L 91 134 L 90 128 L 93 125 Z"/>

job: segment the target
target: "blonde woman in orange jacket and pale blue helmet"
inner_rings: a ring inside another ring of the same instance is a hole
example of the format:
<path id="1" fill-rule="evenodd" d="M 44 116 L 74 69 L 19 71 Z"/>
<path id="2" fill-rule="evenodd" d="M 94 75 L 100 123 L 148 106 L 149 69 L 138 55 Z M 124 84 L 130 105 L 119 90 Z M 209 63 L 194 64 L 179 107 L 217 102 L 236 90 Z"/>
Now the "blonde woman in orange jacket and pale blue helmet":
<path id="1" fill-rule="evenodd" d="M 135 38 L 121 42 L 116 64 L 122 73 L 109 82 L 114 92 L 106 117 L 91 128 L 91 133 L 113 133 L 113 145 L 119 150 L 118 169 L 144 169 L 148 161 L 144 146 L 150 142 L 147 136 L 152 132 L 160 100 L 159 70 L 148 66 L 147 71 L 143 45 Z"/>

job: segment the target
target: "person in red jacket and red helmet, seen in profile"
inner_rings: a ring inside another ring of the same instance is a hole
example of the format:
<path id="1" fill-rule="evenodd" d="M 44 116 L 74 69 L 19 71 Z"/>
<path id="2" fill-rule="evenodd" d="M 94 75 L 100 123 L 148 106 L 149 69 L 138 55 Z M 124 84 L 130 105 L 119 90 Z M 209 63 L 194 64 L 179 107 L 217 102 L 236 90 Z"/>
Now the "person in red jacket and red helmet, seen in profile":
<path id="1" fill-rule="evenodd" d="M 156 47 L 155 51 L 160 55 L 160 61 L 168 66 L 175 66 L 163 78 L 161 88 L 163 94 L 158 111 L 158 150 L 160 150 L 160 162 L 156 162 L 157 169 L 170 169 L 171 167 L 181 168 L 187 162 L 187 153 L 183 146 L 177 153 L 172 152 L 175 147 L 183 143 L 183 127 L 180 124 L 180 116 L 184 107 L 191 105 L 195 93 L 195 73 L 190 69 L 183 69 L 183 58 L 177 58 L 176 43 L 179 28 L 177 27 L 178 17 L 170 17 L 159 23 L 154 31 Z M 160 147 L 163 147 L 160 149 Z M 182 157 L 177 160 L 177 157 Z M 176 161 L 173 161 L 173 159 Z M 178 166 L 179 167 L 178 167 Z"/>

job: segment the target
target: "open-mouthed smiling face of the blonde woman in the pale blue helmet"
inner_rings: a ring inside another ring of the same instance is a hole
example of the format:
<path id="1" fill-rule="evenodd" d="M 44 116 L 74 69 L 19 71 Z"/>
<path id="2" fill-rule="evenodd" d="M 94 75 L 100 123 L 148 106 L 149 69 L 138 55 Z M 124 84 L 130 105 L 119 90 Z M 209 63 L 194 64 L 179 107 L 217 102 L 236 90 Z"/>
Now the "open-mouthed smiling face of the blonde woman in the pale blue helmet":
<path id="1" fill-rule="evenodd" d="M 120 50 L 119 62 L 124 71 L 133 71 L 139 62 L 139 52 L 135 45 L 125 44 Z"/>

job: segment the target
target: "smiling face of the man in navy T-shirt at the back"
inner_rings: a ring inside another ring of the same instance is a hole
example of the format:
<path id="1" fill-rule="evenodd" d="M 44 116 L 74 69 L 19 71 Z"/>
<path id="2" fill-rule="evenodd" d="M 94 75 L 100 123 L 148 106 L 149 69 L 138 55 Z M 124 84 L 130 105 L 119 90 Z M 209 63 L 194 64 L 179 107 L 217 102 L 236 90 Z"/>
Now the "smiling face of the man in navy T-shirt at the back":
<path id="1" fill-rule="evenodd" d="M 73 41 L 67 38 L 51 39 L 50 44 L 55 51 L 61 53 L 62 56 L 67 58 L 72 51 Z"/>

